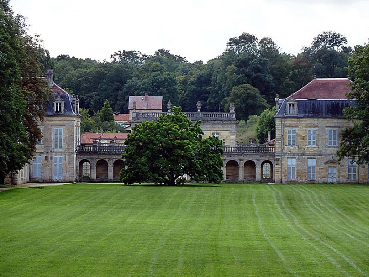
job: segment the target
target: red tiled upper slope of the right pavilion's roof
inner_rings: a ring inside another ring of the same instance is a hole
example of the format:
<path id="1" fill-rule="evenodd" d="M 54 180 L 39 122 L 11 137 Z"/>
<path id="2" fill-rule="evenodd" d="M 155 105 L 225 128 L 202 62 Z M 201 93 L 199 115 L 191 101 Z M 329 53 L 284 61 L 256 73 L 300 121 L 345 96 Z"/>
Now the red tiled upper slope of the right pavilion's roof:
<path id="1" fill-rule="evenodd" d="M 292 96 L 294 99 L 347 99 L 345 93 L 350 91 L 349 79 L 314 79 Z"/>

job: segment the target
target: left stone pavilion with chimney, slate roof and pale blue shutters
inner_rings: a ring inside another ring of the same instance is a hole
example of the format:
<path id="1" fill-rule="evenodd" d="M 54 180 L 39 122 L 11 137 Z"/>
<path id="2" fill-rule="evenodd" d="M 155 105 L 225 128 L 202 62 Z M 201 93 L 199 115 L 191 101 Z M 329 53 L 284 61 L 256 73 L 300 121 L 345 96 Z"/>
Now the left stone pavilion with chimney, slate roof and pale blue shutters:
<path id="1" fill-rule="evenodd" d="M 55 99 L 48 105 L 39 127 L 42 140 L 38 142 L 29 165 L 32 182 L 74 182 L 76 180 L 76 148 L 80 145 L 79 100 L 53 82 L 53 70 L 48 70 L 49 85 Z"/>

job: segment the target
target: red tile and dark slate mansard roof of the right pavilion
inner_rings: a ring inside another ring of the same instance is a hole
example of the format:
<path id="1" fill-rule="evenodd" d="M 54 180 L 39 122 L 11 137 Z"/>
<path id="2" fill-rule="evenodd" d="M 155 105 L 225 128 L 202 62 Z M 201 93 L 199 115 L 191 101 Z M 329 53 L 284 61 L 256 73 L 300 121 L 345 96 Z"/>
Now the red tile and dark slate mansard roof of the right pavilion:
<path id="1" fill-rule="evenodd" d="M 354 101 L 347 100 L 346 92 L 351 91 L 349 79 L 314 79 L 302 89 L 284 99 L 276 113 L 276 118 L 344 118 L 343 109 Z M 294 100 L 297 114 L 285 112 L 287 102 Z"/>

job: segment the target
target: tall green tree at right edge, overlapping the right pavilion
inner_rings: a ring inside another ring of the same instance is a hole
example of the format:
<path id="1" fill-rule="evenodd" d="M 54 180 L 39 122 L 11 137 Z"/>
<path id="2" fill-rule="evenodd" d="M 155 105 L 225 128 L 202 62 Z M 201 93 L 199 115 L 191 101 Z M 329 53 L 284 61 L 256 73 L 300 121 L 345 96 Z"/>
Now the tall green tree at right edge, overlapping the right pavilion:
<path id="1" fill-rule="evenodd" d="M 353 103 L 343 112 L 353 121 L 353 127 L 341 133 L 337 155 L 340 159 L 352 157 L 358 164 L 363 164 L 369 162 L 369 44 L 355 47 L 349 65 L 354 84 L 352 92 L 346 95 Z"/>

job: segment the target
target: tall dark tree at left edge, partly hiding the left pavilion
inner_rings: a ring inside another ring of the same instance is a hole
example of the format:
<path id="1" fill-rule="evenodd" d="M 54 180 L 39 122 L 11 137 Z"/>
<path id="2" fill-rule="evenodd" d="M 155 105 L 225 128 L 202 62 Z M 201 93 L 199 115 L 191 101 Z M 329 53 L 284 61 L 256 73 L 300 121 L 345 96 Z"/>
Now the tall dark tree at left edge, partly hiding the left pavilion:
<path id="1" fill-rule="evenodd" d="M 38 120 L 51 97 L 47 81 L 39 77 L 47 52 L 26 30 L 25 19 L 13 16 L 9 1 L 0 0 L 0 183 L 32 159 L 42 138 Z"/>

